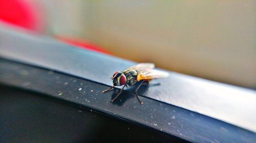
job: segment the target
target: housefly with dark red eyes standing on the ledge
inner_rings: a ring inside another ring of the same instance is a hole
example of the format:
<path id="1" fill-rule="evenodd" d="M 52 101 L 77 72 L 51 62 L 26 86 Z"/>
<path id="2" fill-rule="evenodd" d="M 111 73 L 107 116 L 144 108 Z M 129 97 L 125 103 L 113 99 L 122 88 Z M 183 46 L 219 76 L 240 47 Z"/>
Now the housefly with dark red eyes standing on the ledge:
<path id="1" fill-rule="evenodd" d="M 165 78 L 165 77 L 168 77 L 169 75 L 167 72 L 160 71 L 154 68 L 155 68 L 155 65 L 152 63 L 141 63 L 138 65 L 132 66 L 128 69 L 125 69 L 123 71 L 117 71 L 112 76 L 113 86 L 108 90 L 104 90 L 102 92 L 105 93 L 113 89 L 115 86 L 123 85 L 120 92 L 116 95 L 116 97 L 113 100 L 111 100 L 112 102 L 114 102 L 117 99 L 117 97 L 122 93 L 124 87 L 131 87 L 136 82 L 143 80 L 142 82 L 140 82 L 140 84 L 135 90 L 138 101 L 140 102 L 140 104 L 143 104 L 143 102 L 141 102 L 141 100 L 139 99 L 138 93 L 137 93 L 142 83 L 144 81 L 150 81 L 155 78 Z"/>

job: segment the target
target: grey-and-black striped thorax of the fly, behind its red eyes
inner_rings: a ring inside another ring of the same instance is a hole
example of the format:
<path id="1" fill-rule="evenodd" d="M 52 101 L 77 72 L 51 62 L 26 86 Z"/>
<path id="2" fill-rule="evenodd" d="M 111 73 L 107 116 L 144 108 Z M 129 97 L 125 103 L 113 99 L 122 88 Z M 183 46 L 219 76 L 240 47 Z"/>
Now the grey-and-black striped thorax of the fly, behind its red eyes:
<path id="1" fill-rule="evenodd" d="M 122 71 L 122 73 L 125 75 L 126 77 L 126 85 L 128 86 L 132 86 L 137 82 L 137 75 L 138 72 L 135 69 L 126 69 L 124 71 Z"/>

